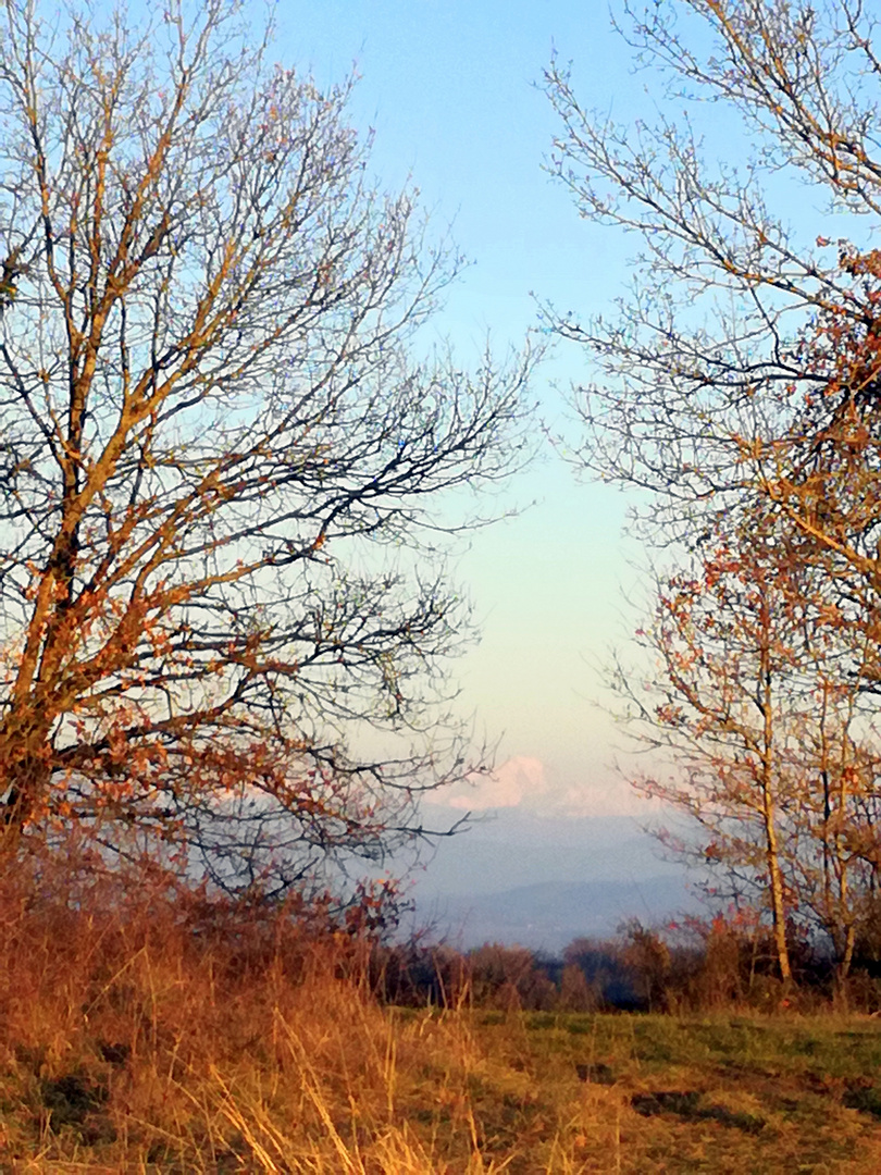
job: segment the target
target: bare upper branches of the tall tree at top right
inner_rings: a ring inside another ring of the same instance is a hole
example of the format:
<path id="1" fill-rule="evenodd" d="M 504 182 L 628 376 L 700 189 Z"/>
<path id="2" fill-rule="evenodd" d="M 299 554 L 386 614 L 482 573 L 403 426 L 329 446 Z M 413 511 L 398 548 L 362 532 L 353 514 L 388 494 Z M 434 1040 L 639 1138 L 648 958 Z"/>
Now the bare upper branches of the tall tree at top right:
<path id="1" fill-rule="evenodd" d="M 655 533 L 694 540 L 821 388 L 800 348 L 814 317 L 865 321 L 843 237 L 881 207 L 881 62 L 859 0 L 625 4 L 620 31 L 658 81 L 654 123 L 585 108 L 554 62 L 549 168 L 643 251 L 617 314 L 546 314 L 601 372 L 578 397 L 580 459 L 654 491 Z"/>

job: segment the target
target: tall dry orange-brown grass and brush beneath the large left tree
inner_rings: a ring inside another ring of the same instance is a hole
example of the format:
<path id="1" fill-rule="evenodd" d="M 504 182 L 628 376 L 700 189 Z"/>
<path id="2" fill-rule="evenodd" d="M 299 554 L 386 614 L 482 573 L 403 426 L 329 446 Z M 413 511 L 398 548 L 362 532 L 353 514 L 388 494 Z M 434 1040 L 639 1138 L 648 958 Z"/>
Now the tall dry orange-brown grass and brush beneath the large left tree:
<path id="1" fill-rule="evenodd" d="M 347 935 L 58 892 L 0 891 L 4 1170 L 573 1169 L 577 1081 L 558 1103 L 516 1038 L 381 1008 Z"/>

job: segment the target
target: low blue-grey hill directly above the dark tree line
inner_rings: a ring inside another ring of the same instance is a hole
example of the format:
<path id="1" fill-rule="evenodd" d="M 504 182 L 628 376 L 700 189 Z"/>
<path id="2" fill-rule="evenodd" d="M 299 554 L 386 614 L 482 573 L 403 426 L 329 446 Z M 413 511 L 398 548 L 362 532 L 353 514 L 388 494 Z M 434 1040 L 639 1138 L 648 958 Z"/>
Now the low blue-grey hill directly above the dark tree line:
<path id="1" fill-rule="evenodd" d="M 418 918 L 460 949 L 519 944 L 559 953 L 574 938 L 606 938 L 638 918 L 646 925 L 699 908 L 679 874 L 639 880 L 542 881 L 500 893 L 425 894 Z"/>

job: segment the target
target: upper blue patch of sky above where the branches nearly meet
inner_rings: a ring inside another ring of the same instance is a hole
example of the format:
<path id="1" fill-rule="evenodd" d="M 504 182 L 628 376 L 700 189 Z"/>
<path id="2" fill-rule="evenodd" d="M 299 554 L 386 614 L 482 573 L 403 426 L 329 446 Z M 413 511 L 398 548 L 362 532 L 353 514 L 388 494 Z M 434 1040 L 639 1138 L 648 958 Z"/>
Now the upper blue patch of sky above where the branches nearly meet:
<path id="1" fill-rule="evenodd" d="M 534 322 L 530 290 L 603 304 L 620 244 L 580 223 L 540 170 L 556 121 L 536 83 L 557 47 L 590 101 L 626 114 L 630 53 L 604 5 L 323 0 L 276 19 L 278 48 L 320 83 L 359 75 L 351 114 L 376 132 L 383 181 L 411 176 L 438 230 L 453 222 L 473 268 L 438 333 L 475 349 L 487 329 L 518 343 Z"/>

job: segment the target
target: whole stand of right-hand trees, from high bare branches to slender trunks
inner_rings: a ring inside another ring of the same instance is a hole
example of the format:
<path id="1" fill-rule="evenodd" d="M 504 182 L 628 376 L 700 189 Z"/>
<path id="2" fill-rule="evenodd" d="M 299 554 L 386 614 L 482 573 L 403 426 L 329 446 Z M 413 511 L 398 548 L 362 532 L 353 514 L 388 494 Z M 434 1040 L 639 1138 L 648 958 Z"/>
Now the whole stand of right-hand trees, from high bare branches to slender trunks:
<path id="1" fill-rule="evenodd" d="M 616 313 L 545 308 L 598 372 L 576 394 L 578 461 L 650 491 L 641 532 L 688 552 L 670 583 L 695 566 L 705 578 L 720 544 L 746 568 L 724 602 L 690 589 L 686 627 L 661 585 L 657 685 L 687 713 L 644 717 L 691 739 L 697 776 L 686 761 L 666 798 L 726 833 L 720 859 L 755 873 L 746 846 L 765 854 L 781 972 L 774 857 L 791 908 L 813 911 L 846 973 L 879 859 L 866 717 L 881 680 L 875 22 L 860 0 L 621 12 L 659 83 L 653 123 L 616 125 L 579 102 L 567 69 L 546 75 L 561 120 L 551 172 L 584 216 L 643 247 Z M 745 812 L 759 835 L 744 844 Z"/>

